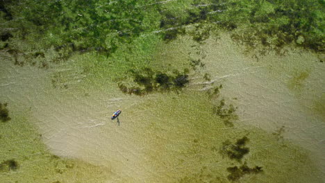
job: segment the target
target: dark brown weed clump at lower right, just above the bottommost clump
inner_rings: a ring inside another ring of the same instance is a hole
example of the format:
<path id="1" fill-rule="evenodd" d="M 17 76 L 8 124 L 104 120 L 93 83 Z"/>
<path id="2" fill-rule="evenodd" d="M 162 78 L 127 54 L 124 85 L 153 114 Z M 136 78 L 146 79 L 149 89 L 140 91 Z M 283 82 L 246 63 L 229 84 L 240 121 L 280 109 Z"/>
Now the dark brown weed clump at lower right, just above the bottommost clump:
<path id="1" fill-rule="evenodd" d="M 235 143 L 226 140 L 222 143 L 222 148 L 219 153 L 240 162 L 244 155 L 249 153 L 249 148 L 245 147 L 248 141 L 249 139 L 246 136 L 242 137 L 242 139 L 237 139 Z"/>

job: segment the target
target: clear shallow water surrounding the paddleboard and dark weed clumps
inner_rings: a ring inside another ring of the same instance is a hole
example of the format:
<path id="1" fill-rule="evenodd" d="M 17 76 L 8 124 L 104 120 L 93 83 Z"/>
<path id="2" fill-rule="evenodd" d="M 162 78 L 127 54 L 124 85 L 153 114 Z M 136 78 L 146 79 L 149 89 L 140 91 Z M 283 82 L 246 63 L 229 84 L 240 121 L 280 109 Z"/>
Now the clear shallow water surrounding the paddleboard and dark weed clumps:
<path id="1" fill-rule="evenodd" d="M 11 118 L 0 121 L 0 182 L 324 182 L 322 53 L 286 45 L 283 55 L 271 51 L 262 56 L 218 28 L 203 42 L 190 33 L 163 40 L 160 33 L 177 28 L 191 32 L 199 24 L 175 21 L 159 27 L 163 14 L 156 6 L 185 18 L 187 9 L 213 4 L 150 1 L 128 6 L 145 8 L 148 30 L 131 37 L 132 42 L 115 42 L 118 49 L 110 55 L 74 51 L 53 62 L 65 53 L 45 46 L 63 42 L 60 28 L 53 28 L 53 35 L 49 30 L 43 40 L 36 34 L 10 40 L 17 55 L 0 51 L 0 103 L 8 103 Z M 65 11 L 72 17 L 75 13 Z M 78 12 L 77 17 L 85 15 Z M 12 21 L 3 25 L 7 23 Z M 197 32 L 210 24 L 204 25 Z M 90 42 L 101 45 L 98 40 Z M 28 57 L 33 49 L 43 56 Z M 188 69 L 190 82 L 180 90 L 123 94 L 118 84 L 134 86 L 129 70 L 143 68 L 167 74 Z M 212 94 L 216 87 L 219 93 Z M 222 99 L 226 113 L 215 114 Z M 110 120 L 118 109 L 119 123 Z M 224 144 L 244 137 L 249 140 L 241 148 L 249 152 L 242 159 L 224 153 L 233 147 Z M 8 159 L 18 166 L 8 168 Z M 238 174 L 229 171 L 244 166 Z"/>

